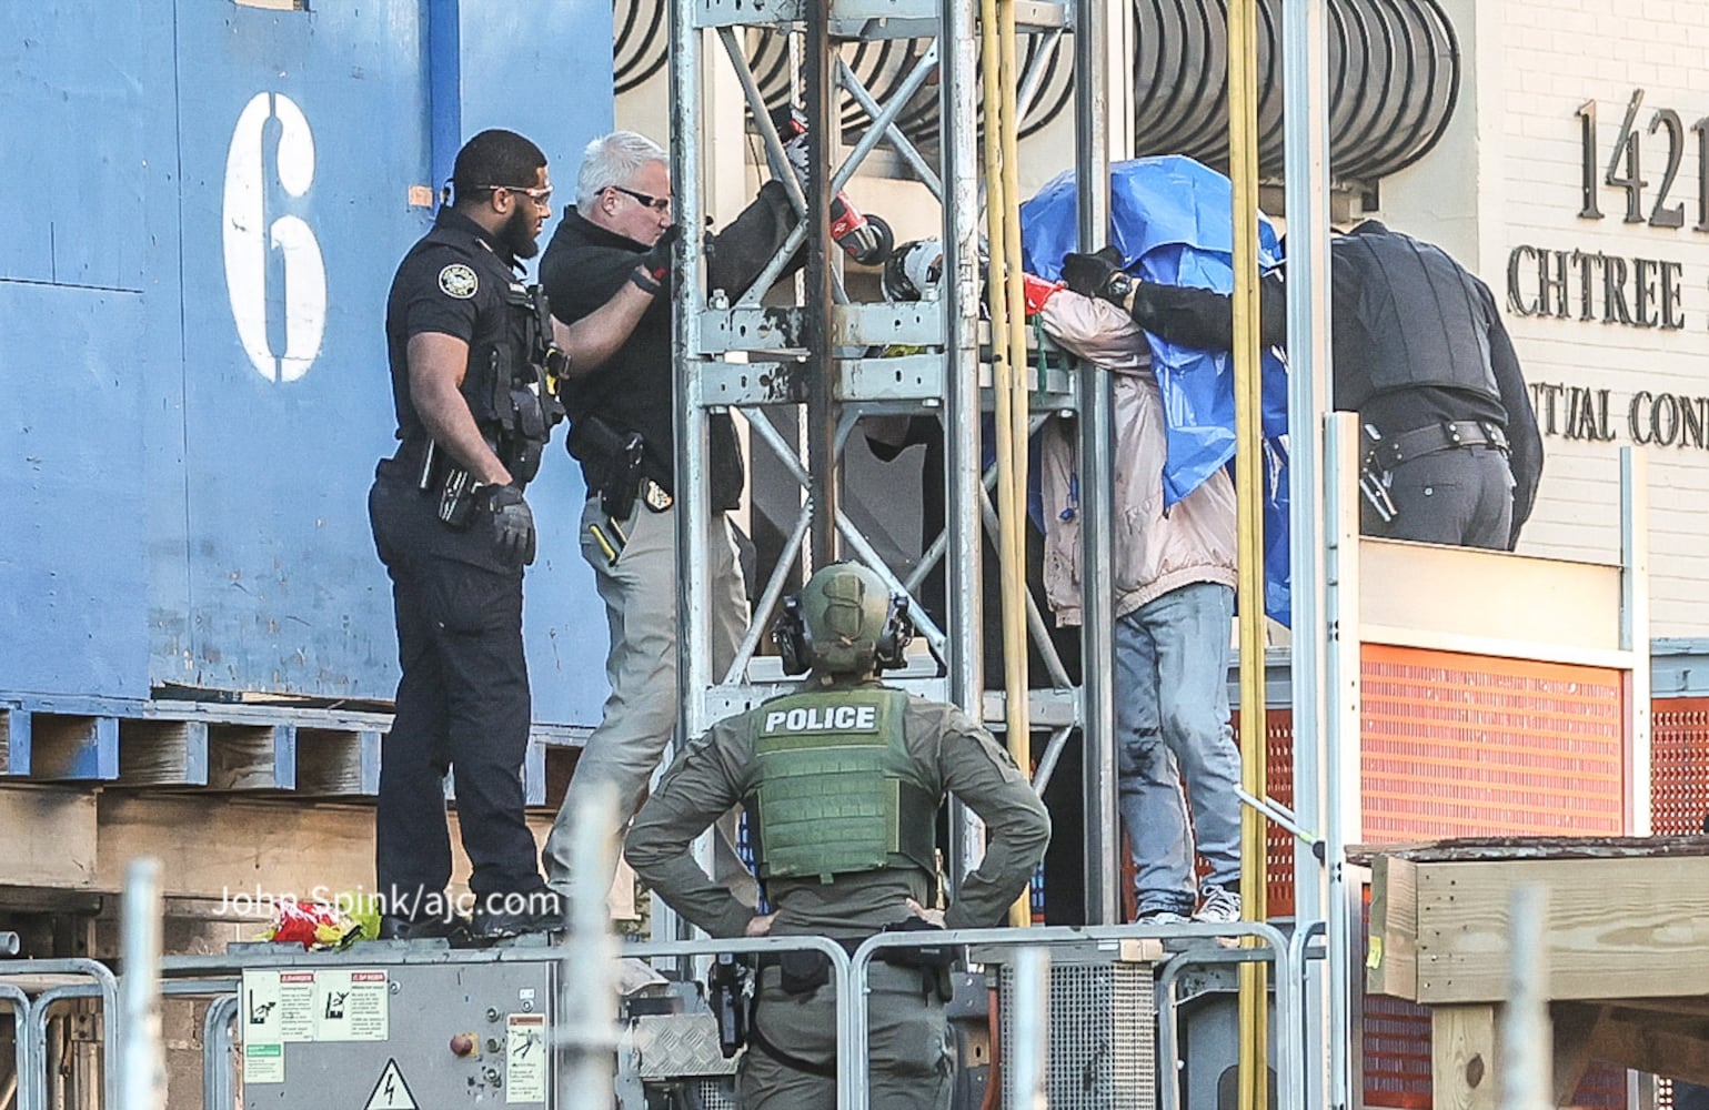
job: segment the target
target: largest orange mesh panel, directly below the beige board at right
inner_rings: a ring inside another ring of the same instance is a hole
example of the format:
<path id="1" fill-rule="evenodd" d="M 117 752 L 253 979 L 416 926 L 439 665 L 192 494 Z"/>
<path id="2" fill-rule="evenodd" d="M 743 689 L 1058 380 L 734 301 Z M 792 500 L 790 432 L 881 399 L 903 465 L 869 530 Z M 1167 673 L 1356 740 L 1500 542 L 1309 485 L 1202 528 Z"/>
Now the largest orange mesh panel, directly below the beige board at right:
<path id="1" fill-rule="evenodd" d="M 1620 673 L 1365 644 L 1364 840 L 1620 835 Z"/>

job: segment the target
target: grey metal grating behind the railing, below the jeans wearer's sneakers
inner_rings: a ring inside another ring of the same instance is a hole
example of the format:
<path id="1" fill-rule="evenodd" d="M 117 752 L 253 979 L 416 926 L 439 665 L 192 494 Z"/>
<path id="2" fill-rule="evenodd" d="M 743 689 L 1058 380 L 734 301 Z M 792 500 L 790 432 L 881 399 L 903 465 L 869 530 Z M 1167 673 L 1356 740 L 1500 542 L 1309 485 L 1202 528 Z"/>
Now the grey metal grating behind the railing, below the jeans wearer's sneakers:
<path id="1" fill-rule="evenodd" d="M 1000 1059 L 1013 1059 L 1015 970 L 998 975 L 1003 1014 Z M 1051 1110 L 1154 1110 L 1157 1105 L 1157 1001 L 1152 965 L 1051 963 L 1051 1040 L 1046 1095 Z M 1003 1107 L 1015 1107 L 1003 1069 Z"/>

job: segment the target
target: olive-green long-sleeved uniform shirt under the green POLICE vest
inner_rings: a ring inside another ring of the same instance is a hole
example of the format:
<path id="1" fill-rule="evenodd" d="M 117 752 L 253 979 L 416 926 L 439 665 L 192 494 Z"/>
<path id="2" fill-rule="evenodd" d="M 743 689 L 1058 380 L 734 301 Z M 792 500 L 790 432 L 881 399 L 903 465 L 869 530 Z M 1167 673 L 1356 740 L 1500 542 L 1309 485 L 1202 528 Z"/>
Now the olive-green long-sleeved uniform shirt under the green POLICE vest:
<path id="1" fill-rule="evenodd" d="M 754 910 L 713 883 L 689 845 L 752 787 L 757 712 L 719 721 L 684 751 L 641 808 L 624 850 L 648 886 L 711 936 L 742 936 Z M 962 879 L 943 924 L 950 929 L 1001 924 L 1049 844 L 1044 803 L 1015 770 L 1008 751 L 954 705 L 909 698 L 902 729 L 925 782 L 935 786 L 940 799 L 955 794 L 986 827 L 984 861 Z M 907 917 L 907 898 L 925 905 L 930 886 L 931 876 L 918 868 L 839 874 L 831 883 L 771 879 L 766 895 L 778 912 L 771 932 L 868 936 Z"/>

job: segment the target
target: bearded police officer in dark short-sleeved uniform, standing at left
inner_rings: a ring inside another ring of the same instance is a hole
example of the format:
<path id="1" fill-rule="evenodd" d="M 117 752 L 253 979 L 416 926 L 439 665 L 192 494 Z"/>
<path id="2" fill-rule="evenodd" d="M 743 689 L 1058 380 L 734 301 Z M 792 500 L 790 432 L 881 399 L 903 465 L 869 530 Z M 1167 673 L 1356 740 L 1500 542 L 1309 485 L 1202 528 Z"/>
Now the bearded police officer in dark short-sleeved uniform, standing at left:
<path id="1" fill-rule="evenodd" d="M 523 567 L 535 557 L 523 488 L 562 408 L 557 379 L 610 355 L 653 302 L 625 285 L 573 328 L 555 324 L 518 263 L 550 212 L 545 155 L 513 131 L 456 157 L 456 203 L 398 266 L 386 353 L 402 441 L 379 463 L 369 517 L 393 582 L 396 717 L 383 746 L 376 871 L 385 938 L 449 936 L 444 775 L 456 767 L 472 931 L 499 939 L 555 926 L 523 818 L 531 707 Z M 660 256 L 639 260 L 658 283 Z"/>

